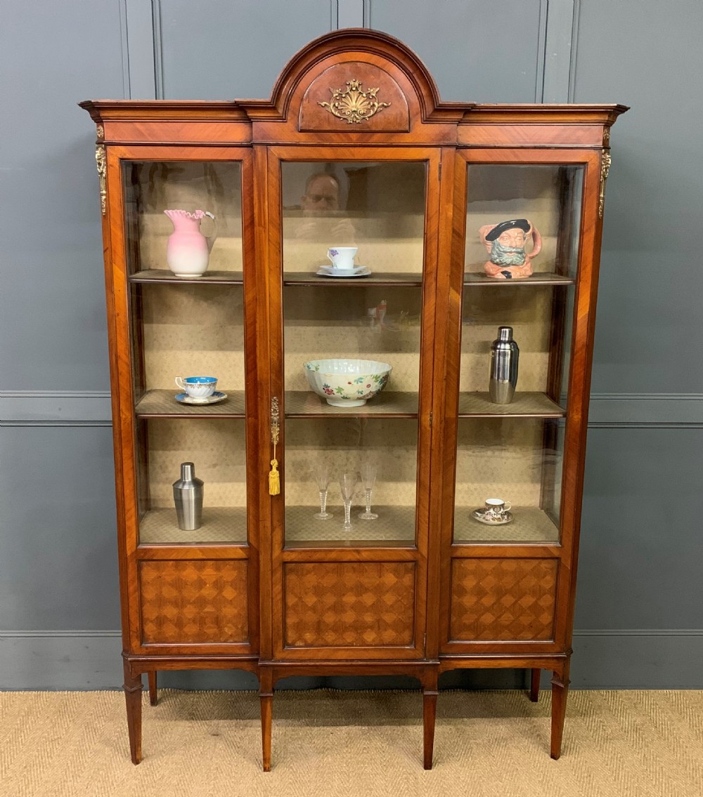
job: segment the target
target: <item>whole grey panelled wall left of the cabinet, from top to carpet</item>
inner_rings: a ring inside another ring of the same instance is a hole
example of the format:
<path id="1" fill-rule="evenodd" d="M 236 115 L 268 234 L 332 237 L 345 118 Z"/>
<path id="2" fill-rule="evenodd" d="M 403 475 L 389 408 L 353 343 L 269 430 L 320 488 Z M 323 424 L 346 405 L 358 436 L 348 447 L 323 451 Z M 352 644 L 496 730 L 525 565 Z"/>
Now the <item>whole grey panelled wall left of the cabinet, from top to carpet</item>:
<path id="1" fill-rule="evenodd" d="M 95 130 L 75 103 L 126 96 L 124 4 L 36 6 L 3 3 L 0 25 L 0 687 L 85 689 L 120 683 L 120 612 Z"/>

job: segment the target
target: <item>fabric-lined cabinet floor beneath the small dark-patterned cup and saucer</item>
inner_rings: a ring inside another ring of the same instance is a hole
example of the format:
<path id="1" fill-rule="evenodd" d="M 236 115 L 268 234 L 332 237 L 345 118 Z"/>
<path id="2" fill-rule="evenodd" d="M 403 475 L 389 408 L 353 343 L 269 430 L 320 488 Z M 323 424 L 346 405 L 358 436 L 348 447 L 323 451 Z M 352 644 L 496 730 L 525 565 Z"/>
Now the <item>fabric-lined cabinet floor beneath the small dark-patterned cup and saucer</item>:
<path id="1" fill-rule="evenodd" d="M 542 509 L 511 508 L 514 520 L 504 526 L 489 526 L 472 516 L 478 507 L 454 509 L 454 543 L 551 543 L 559 544 L 559 528 Z"/>

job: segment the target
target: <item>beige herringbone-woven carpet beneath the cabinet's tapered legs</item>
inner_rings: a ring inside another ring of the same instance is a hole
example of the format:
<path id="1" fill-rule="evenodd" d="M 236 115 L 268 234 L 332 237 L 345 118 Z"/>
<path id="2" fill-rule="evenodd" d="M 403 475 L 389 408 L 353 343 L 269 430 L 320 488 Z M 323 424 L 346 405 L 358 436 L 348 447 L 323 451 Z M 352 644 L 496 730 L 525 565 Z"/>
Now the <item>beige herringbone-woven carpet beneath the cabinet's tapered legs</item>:
<path id="1" fill-rule="evenodd" d="M 256 693 L 159 697 L 135 767 L 120 692 L 0 693 L 0 795 L 703 795 L 703 691 L 572 691 L 559 761 L 549 692 L 442 692 L 432 771 L 420 693 L 282 691 L 269 773 Z"/>

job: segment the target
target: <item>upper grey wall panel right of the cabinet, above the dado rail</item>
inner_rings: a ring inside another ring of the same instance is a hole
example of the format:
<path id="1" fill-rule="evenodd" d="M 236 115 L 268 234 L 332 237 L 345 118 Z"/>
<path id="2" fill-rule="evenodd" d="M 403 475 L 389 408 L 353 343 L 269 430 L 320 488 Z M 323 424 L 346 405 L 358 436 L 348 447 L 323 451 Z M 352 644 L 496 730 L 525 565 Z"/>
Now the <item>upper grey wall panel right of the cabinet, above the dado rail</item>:
<path id="1" fill-rule="evenodd" d="M 582 2 L 574 100 L 594 102 L 605 86 L 632 105 L 614 133 L 608 180 L 596 392 L 703 394 L 701 245 L 692 234 L 703 214 L 703 3 L 675 9 Z"/>

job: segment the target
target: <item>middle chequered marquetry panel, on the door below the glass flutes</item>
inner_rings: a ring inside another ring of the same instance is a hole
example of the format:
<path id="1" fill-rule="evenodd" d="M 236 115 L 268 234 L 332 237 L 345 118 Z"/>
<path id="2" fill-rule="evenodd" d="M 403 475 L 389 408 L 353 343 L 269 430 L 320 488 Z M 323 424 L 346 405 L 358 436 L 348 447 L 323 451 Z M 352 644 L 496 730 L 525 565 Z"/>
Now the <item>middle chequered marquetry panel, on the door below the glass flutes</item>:
<path id="1" fill-rule="evenodd" d="M 290 563 L 284 594 L 286 646 L 413 643 L 414 562 Z"/>

